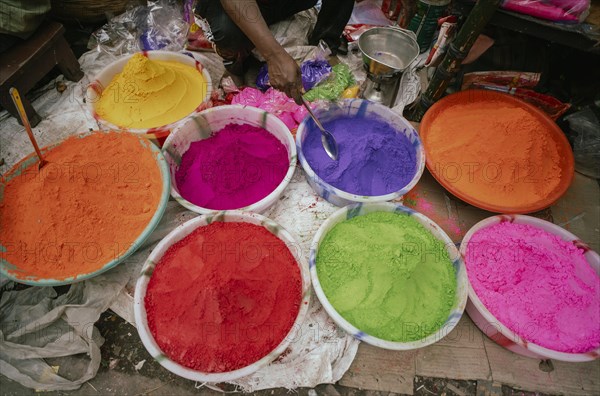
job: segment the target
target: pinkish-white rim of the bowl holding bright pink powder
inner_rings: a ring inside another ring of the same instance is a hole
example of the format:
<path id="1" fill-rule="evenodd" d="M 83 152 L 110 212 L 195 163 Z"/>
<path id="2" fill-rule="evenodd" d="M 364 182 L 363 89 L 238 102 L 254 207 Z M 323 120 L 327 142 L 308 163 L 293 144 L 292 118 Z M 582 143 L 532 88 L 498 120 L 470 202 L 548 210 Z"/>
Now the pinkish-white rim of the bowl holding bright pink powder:
<path id="1" fill-rule="evenodd" d="M 557 235 L 564 241 L 572 242 L 575 246 L 582 248 L 585 251 L 585 258 L 587 259 L 588 263 L 592 266 L 592 268 L 594 268 L 596 270 L 596 272 L 600 273 L 600 256 L 598 256 L 598 253 L 591 250 L 585 242 L 581 241 L 577 236 L 573 235 L 569 231 L 565 230 L 564 228 L 562 228 L 556 224 L 550 223 L 550 222 L 542 220 L 542 219 L 538 219 L 536 217 L 531 217 L 531 216 L 526 216 L 526 215 L 491 216 L 491 217 L 481 220 L 480 222 L 475 224 L 473 227 L 471 227 L 471 229 L 465 234 L 465 237 L 463 238 L 462 243 L 460 244 L 460 255 L 462 256 L 463 260 L 465 261 L 465 269 L 467 268 L 466 267 L 467 247 L 468 247 L 469 242 L 470 242 L 471 238 L 473 237 L 473 235 L 483 228 L 487 228 L 494 224 L 498 224 L 498 223 L 502 223 L 502 222 L 506 222 L 506 221 L 516 223 L 516 224 L 527 224 L 527 225 L 530 225 L 530 226 L 533 226 L 536 228 L 540 228 L 551 234 Z M 468 280 L 468 274 L 467 274 L 467 280 Z M 561 360 L 561 361 L 566 361 L 566 362 L 585 362 L 585 361 L 595 360 L 598 357 L 600 357 L 600 348 L 597 348 L 592 351 L 584 352 L 584 353 L 568 353 L 568 352 L 554 351 L 552 349 L 545 348 L 540 345 L 529 342 L 527 340 L 524 340 L 521 336 L 519 336 L 518 334 L 516 334 L 515 332 L 510 330 L 508 327 L 506 327 L 504 324 L 502 324 L 502 322 L 500 322 L 485 307 L 485 305 L 481 302 L 481 300 L 477 296 L 477 293 L 475 293 L 475 290 L 473 289 L 473 286 L 471 285 L 470 281 L 469 281 L 469 300 L 470 300 L 471 304 L 475 307 L 475 309 L 478 311 L 478 313 L 487 322 L 485 324 L 476 322 L 478 327 L 480 327 L 481 325 L 485 325 L 486 328 L 493 329 L 494 332 L 499 332 L 502 336 L 504 336 L 508 340 L 508 342 L 512 342 L 514 344 L 514 345 L 509 344 L 509 345 L 503 345 L 503 346 L 507 349 L 515 349 L 514 352 L 516 352 L 516 353 L 520 353 L 518 347 L 521 347 L 528 352 L 528 353 L 522 353 L 522 354 L 536 355 L 536 356 L 544 357 L 546 359 L 555 359 L 555 360 Z M 480 329 L 481 329 L 481 327 L 480 327 Z M 481 330 L 484 331 L 484 333 L 486 333 L 485 330 L 483 330 L 483 329 L 481 329 Z M 517 346 L 517 348 L 514 348 L 515 346 Z M 523 351 L 523 352 L 526 352 L 526 351 Z"/>

